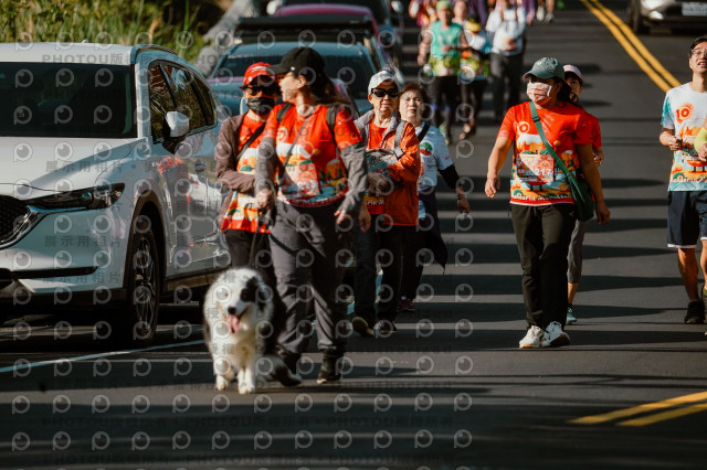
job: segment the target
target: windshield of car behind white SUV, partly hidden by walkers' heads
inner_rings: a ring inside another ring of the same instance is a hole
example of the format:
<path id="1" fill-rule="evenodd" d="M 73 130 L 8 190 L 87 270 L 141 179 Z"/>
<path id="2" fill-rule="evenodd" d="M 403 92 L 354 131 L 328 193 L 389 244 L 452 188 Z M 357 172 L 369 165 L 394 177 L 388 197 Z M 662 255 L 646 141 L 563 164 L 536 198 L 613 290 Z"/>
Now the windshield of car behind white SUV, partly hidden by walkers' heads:
<path id="1" fill-rule="evenodd" d="M 245 74 L 245 70 L 254 62 L 266 62 L 278 64 L 283 54 L 277 55 L 231 55 L 215 71 L 214 77 L 240 77 Z M 368 82 L 373 75 L 373 64 L 366 56 L 361 55 L 323 55 L 324 70 L 331 78 L 339 78 L 351 89 L 354 99 L 368 98 Z"/>

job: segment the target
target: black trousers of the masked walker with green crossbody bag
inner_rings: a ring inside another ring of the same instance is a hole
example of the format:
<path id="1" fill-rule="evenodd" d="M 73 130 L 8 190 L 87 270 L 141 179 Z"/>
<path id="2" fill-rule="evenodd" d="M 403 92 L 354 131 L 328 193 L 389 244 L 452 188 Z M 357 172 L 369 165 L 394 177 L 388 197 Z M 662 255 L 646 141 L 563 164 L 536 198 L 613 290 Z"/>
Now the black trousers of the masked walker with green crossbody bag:
<path id="1" fill-rule="evenodd" d="M 574 204 L 510 204 L 523 268 L 526 320 L 546 329 L 567 319 L 567 250 L 574 229 Z"/>

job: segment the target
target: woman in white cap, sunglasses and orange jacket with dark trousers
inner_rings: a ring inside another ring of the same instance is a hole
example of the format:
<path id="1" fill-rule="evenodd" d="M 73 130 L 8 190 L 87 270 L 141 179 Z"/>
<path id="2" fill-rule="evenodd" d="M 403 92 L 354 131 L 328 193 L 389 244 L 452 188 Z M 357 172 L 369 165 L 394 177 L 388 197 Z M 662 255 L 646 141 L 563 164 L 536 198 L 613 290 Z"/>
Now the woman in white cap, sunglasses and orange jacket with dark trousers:
<path id="1" fill-rule="evenodd" d="M 373 109 L 357 119 L 367 149 L 369 189 L 362 211 L 371 214 L 371 228 L 356 234 L 354 330 L 362 337 L 389 337 L 395 316 L 407 234 L 418 224 L 418 178 L 421 163 L 415 128 L 398 115 L 398 83 L 386 71 L 368 84 Z M 378 255 L 378 256 L 377 256 Z M 382 265 L 378 313 L 376 261 Z"/>

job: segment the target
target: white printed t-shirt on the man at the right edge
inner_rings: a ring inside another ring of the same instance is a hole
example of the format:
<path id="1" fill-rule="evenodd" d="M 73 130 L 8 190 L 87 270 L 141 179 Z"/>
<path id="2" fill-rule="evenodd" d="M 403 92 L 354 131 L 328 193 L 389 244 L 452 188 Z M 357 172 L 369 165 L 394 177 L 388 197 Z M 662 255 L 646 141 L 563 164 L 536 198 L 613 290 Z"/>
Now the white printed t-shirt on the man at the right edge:
<path id="1" fill-rule="evenodd" d="M 661 126 L 673 129 L 683 139 L 683 148 L 673 152 L 668 191 L 707 190 L 707 163 L 695 151 L 695 136 L 707 116 L 707 93 L 694 92 L 689 84 L 667 92 Z"/>

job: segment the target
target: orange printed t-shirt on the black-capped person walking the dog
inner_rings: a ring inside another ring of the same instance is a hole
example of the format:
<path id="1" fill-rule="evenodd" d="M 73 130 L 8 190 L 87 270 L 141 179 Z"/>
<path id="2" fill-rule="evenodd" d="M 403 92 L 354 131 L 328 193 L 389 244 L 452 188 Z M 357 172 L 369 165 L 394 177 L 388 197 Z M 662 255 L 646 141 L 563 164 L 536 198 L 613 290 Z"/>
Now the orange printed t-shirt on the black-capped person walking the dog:
<path id="1" fill-rule="evenodd" d="M 333 136 L 327 125 L 326 107 L 318 106 L 306 119 L 292 106 L 278 125 L 277 111 L 282 106 L 273 109 L 264 132 L 265 137 L 275 139 L 281 163 L 285 162 L 294 145 L 285 171 L 282 171 L 282 165 L 276 168 L 277 197 L 299 206 L 326 205 L 342 199 L 348 186 L 346 167 L 337 148 L 341 150 L 361 141 L 350 113 L 344 108 L 337 111 Z M 303 125 L 305 127 L 295 142 Z"/>

